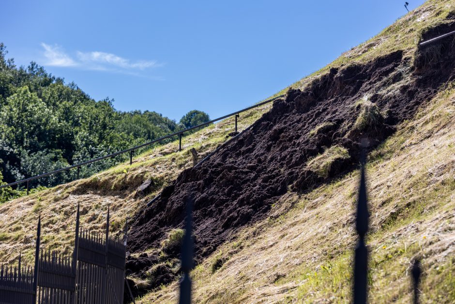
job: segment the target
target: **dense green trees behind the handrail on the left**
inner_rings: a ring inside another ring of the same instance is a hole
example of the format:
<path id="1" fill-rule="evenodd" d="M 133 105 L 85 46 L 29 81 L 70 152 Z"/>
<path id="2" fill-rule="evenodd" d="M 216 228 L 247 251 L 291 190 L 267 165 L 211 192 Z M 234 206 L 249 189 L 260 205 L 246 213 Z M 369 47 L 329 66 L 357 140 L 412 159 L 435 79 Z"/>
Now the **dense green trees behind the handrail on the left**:
<path id="1" fill-rule="evenodd" d="M 196 110 L 183 116 L 181 123 L 157 112 L 116 111 L 112 99 L 95 101 L 75 83 L 65 83 L 34 62 L 28 67 L 16 67 L 13 59 L 6 59 L 6 54 L 5 46 L 0 43 L 0 181 L 3 182 L 117 152 L 209 120 L 206 113 Z M 82 167 L 81 176 L 89 176 L 126 158 L 127 155 L 118 156 Z M 53 186 L 75 176 L 76 170 L 59 173 L 33 181 L 30 186 Z M 13 189 L 1 191 L 7 197 L 6 192 Z"/>

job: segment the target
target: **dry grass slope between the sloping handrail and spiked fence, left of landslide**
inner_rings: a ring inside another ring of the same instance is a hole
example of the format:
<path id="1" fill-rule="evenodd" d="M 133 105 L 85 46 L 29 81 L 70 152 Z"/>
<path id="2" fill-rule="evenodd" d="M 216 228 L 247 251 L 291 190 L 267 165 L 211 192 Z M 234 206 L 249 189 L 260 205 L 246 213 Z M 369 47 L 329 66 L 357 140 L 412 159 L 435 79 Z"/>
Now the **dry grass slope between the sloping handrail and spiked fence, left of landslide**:
<path id="1" fill-rule="evenodd" d="M 257 120 L 270 106 L 241 114 L 239 130 Z M 228 118 L 183 137 L 182 152 L 178 152 L 176 140 L 136 156 L 132 165 L 128 161 L 89 178 L 1 204 L 0 260 L 12 262 L 21 251 L 26 258 L 32 258 L 39 214 L 42 214 L 43 246 L 71 252 L 77 204 L 81 206 L 81 224 L 92 232 L 102 232 L 106 227 L 106 210 L 110 205 L 112 231 L 120 231 L 126 217 L 133 217 L 180 172 L 193 165 L 190 148 L 194 147 L 198 160 L 202 160 L 227 141 L 233 129 L 234 119 Z M 153 181 L 150 193 L 136 195 L 137 187 L 147 179 Z"/>

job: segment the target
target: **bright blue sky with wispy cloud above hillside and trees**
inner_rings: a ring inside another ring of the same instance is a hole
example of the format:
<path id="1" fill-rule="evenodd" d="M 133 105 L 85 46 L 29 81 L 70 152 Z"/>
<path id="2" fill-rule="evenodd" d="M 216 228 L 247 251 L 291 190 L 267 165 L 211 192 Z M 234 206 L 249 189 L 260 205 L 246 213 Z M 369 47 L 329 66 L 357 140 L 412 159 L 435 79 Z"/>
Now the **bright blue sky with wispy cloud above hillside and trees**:
<path id="1" fill-rule="evenodd" d="M 0 41 L 16 64 L 36 61 L 118 110 L 215 118 L 374 36 L 404 2 L 2 0 Z"/>

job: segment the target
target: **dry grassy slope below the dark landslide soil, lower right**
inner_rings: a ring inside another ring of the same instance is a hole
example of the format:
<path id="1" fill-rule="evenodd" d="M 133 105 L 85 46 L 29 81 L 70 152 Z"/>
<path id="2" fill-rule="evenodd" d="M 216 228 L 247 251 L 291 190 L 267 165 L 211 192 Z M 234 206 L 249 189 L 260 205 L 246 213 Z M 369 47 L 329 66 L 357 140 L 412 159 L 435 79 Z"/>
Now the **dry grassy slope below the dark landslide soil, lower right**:
<path id="1" fill-rule="evenodd" d="M 410 303 L 415 256 L 422 303 L 455 302 L 454 126 L 452 84 L 370 153 L 370 303 Z M 358 176 L 277 200 L 192 272 L 195 303 L 349 303 Z M 177 299 L 174 283 L 139 302 Z"/>

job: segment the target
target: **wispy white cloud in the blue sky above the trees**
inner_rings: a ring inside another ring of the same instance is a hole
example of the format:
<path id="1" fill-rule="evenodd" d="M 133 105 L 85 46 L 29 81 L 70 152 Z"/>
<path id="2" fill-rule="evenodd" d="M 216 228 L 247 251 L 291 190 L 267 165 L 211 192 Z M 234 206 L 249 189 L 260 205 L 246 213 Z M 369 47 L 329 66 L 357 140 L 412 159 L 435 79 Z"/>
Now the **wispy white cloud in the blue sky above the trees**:
<path id="1" fill-rule="evenodd" d="M 99 51 L 76 51 L 76 56 L 72 57 L 57 45 L 51 46 L 41 43 L 41 46 L 44 48 L 44 57 L 47 60 L 46 64 L 52 66 L 79 67 L 90 70 L 125 72 L 131 74 L 131 72 L 128 71 L 145 70 L 147 68 L 163 65 L 157 63 L 155 60 L 131 61 L 115 54 Z"/>

